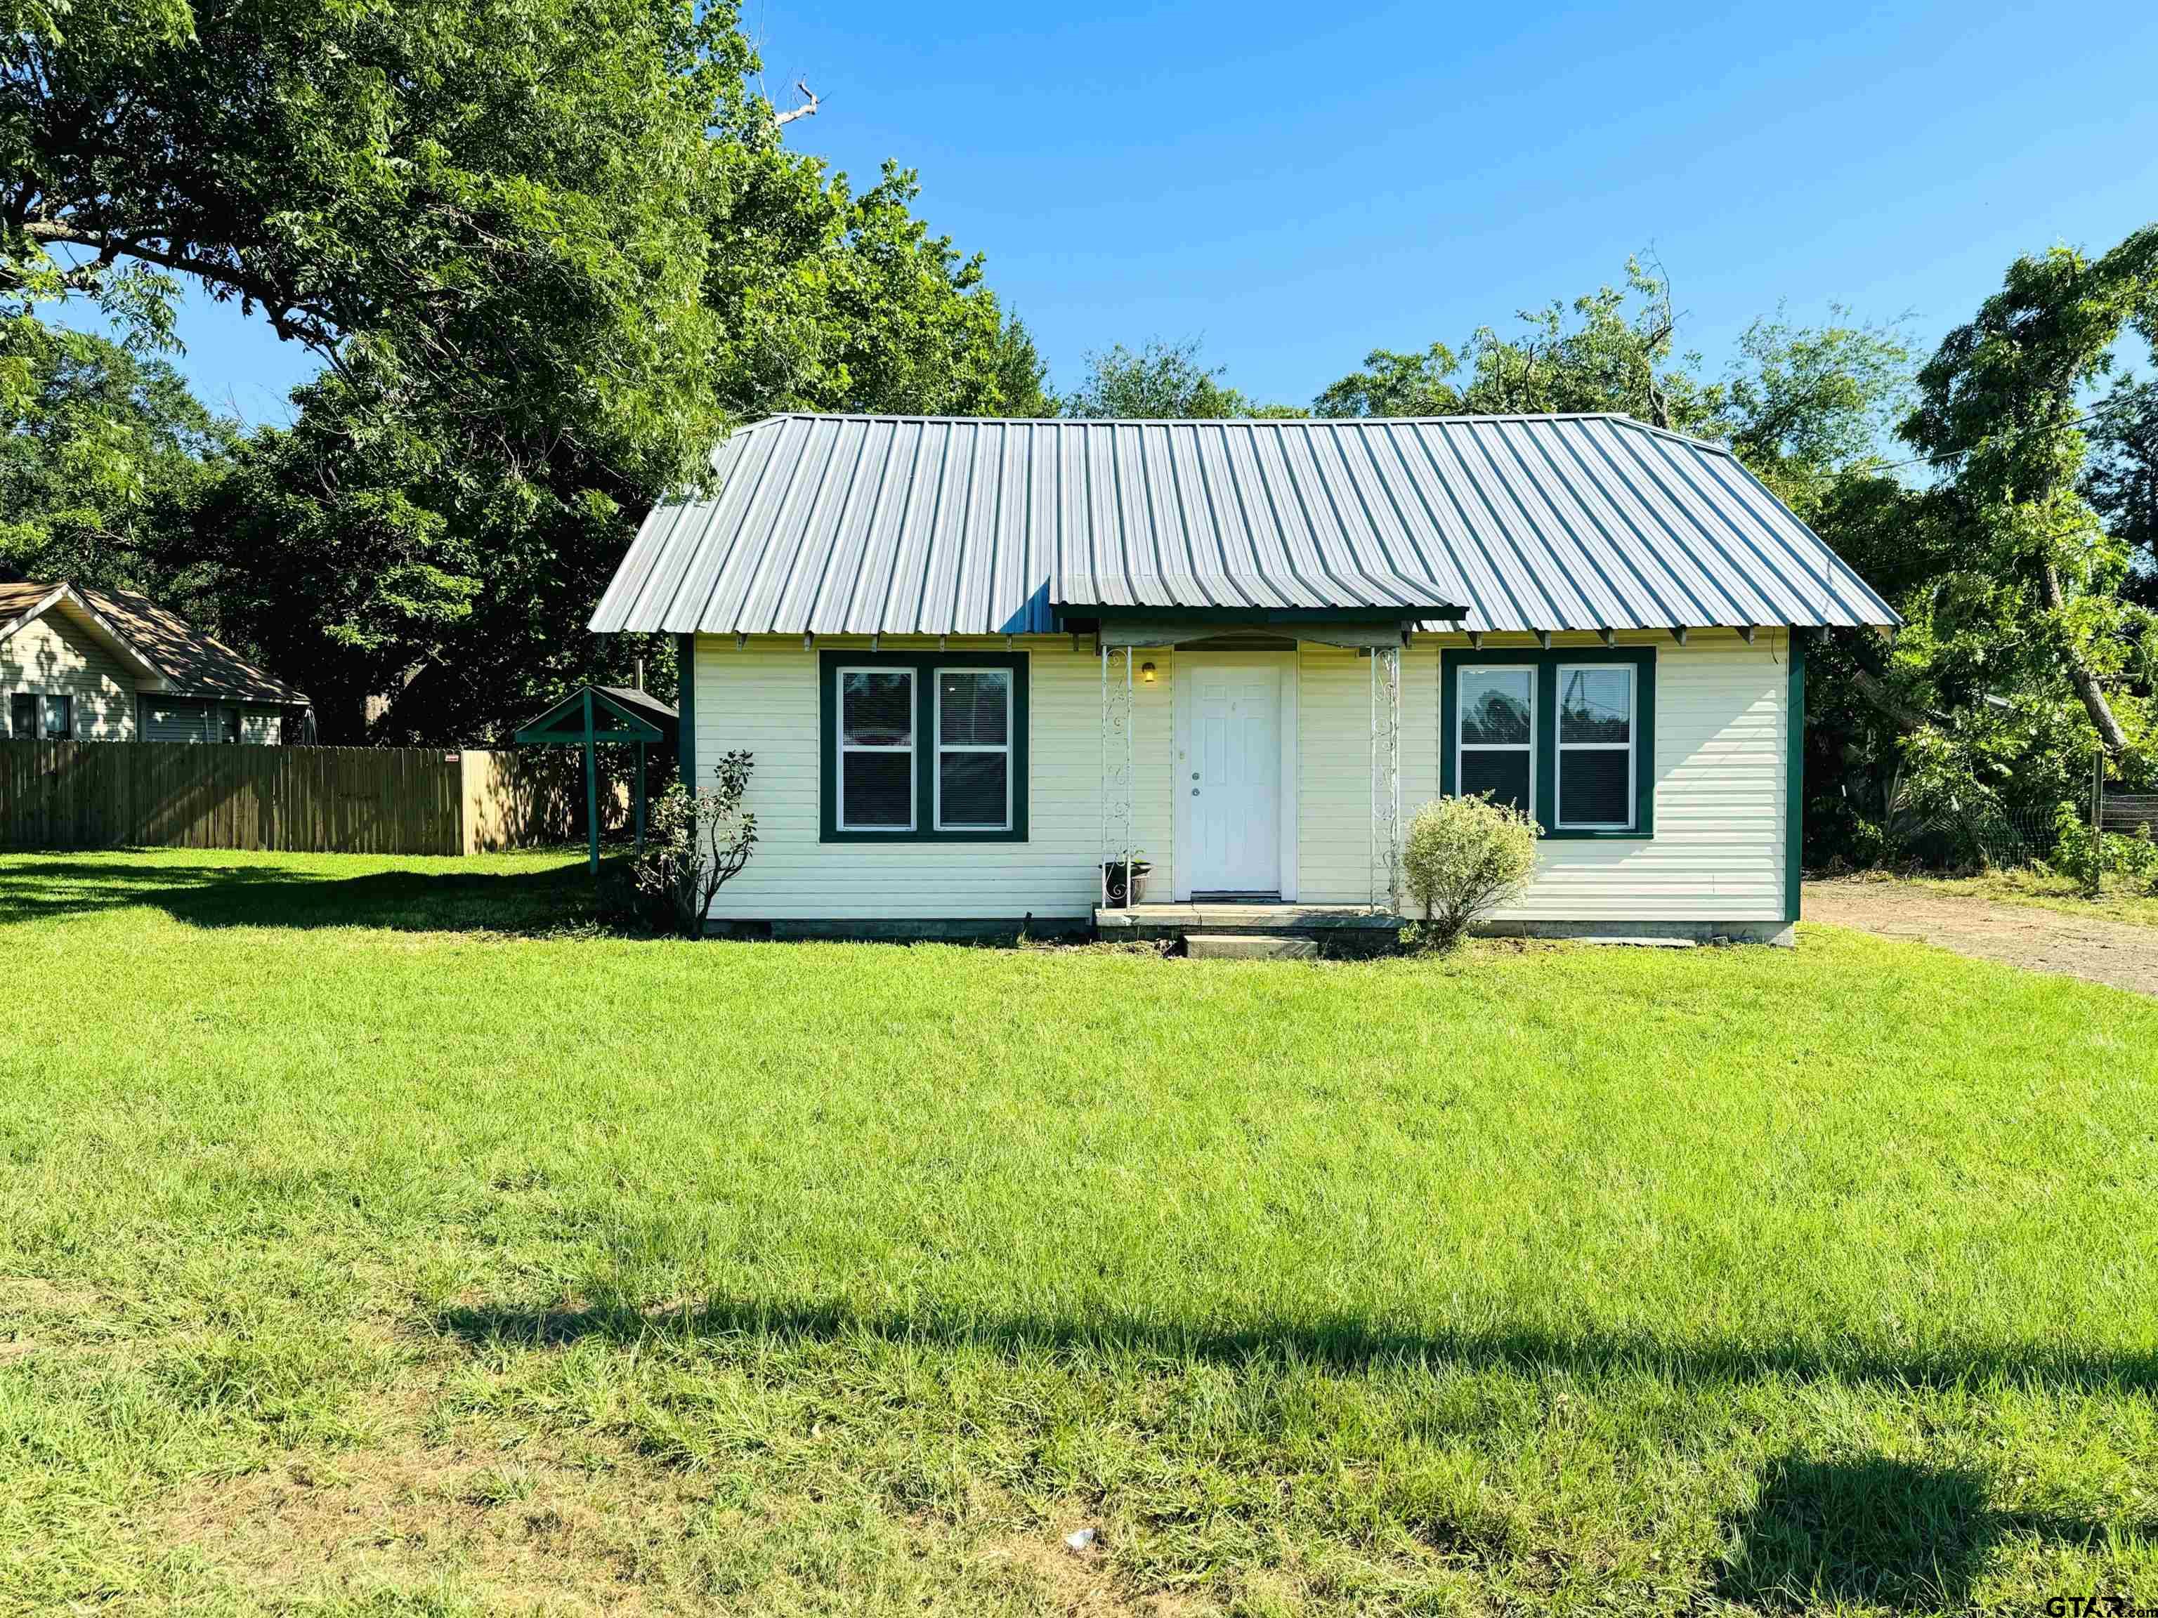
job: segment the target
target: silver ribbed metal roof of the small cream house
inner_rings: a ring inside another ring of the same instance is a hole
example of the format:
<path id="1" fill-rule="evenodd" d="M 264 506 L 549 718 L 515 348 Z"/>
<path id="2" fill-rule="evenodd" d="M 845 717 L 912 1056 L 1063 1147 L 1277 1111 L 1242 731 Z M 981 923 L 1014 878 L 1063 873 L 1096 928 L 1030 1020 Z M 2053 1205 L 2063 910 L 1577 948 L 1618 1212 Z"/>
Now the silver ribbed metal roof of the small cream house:
<path id="1" fill-rule="evenodd" d="M 1463 630 L 1897 623 L 1722 447 L 1627 416 L 773 416 L 660 505 L 591 628 L 1044 634 L 1070 617 Z"/>

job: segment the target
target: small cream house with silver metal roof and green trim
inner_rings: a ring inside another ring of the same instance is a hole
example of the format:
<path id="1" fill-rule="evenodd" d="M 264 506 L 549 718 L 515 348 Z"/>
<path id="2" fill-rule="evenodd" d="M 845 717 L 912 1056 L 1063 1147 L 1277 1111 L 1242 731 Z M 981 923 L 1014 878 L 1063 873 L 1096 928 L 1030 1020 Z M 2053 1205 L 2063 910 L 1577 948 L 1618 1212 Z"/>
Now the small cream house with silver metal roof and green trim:
<path id="1" fill-rule="evenodd" d="M 1545 826 L 1502 921 L 1789 941 L 1804 645 L 1895 611 L 1729 451 L 1625 416 L 777 416 L 591 628 L 755 753 L 714 921 L 1398 904 L 1416 805 Z"/>

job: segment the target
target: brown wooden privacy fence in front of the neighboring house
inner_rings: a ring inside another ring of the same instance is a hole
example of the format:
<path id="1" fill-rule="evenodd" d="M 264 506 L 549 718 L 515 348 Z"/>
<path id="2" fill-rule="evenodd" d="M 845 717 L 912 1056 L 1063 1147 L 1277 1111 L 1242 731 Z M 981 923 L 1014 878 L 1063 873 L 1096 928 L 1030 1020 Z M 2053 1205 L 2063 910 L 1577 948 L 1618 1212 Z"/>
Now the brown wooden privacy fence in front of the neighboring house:
<path id="1" fill-rule="evenodd" d="M 475 854 L 576 835 L 581 798 L 477 749 L 0 742 L 0 848 Z"/>

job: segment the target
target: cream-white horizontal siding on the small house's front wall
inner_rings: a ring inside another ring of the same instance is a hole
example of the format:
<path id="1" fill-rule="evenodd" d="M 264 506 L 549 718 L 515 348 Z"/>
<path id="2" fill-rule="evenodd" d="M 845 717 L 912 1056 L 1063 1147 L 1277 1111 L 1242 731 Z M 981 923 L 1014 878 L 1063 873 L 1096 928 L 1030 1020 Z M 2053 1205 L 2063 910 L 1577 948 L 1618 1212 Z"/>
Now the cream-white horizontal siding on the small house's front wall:
<path id="1" fill-rule="evenodd" d="M 1465 645 L 1465 641 L 1454 641 Z M 1508 643 L 1491 636 L 1487 645 Z M 1521 643 L 1521 641 L 1515 641 Z M 1560 639 L 1565 645 L 1567 639 Z M 1575 636 L 1575 645 L 1599 645 Z M 1545 841 L 1536 878 L 1502 919 L 1524 921 L 1776 921 L 1783 917 L 1787 636 L 1696 630 L 1685 647 L 1657 645 L 1655 837 Z M 1032 658 L 1027 749 L 1029 837 L 1023 844 L 820 844 L 818 652 L 865 639 L 697 641 L 697 757 L 755 753 L 749 800 L 760 844 L 721 889 L 716 919 L 980 919 L 1083 917 L 1098 891 L 1101 662 L 1068 636 L 1021 636 Z M 885 649 L 921 641 L 885 639 Z M 1001 639 L 950 649 L 1001 649 Z M 1133 841 L 1155 861 L 1150 897 L 1174 893 L 1176 656 L 1135 690 Z M 1118 660 L 1120 664 L 1120 660 Z M 1353 652 L 1306 645 L 1297 658 L 1297 897 L 1360 904 L 1370 891 L 1370 664 Z M 1439 790 L 1439 641 L 1403 656 L 1403 813 Z"/>

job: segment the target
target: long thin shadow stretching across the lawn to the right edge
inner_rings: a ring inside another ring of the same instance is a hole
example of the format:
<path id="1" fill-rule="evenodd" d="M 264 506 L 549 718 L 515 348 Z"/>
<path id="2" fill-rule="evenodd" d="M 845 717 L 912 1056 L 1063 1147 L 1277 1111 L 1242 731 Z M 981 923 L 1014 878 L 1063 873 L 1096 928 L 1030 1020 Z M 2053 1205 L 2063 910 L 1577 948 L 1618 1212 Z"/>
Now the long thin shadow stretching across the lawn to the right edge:
<path id="1" fill-rule="evenodd" d="M 1202 1359 L 1243 1366 L 1262 1359 L 1360 1370 L 1372 1363 L 1422 1366 L 1454 1361 L 1470 1368 L 1556 1370 L 1580 1376 L 1651 1372 L 1675 1383 L 1726 1385 L 1789 1376 L 1798 1381 L 1893 1383 L 1955 1387 L 1994 1379 L 2046 1387 L 2158 1389 L 2158 1355 L 2089 1353 L 2070 1344 L 1970 1346 L 1938 1355 L 1890 1355 L 1860 1344 L 1802 1342 L 1729 1344 L 1666 1342 L 1649 1333 L 1584 1331 L 1554 1335 L 1530 1329 L 1409 1333 L 1355 1318 L 1260 1320 L 1208 1331 L 1103 1314 L 1092 1320 L 1051 1316 L 943 1318 L 939 1314 L 861 1314 L 844 1303 L 781 1305 L 712 1301 L 669 1310 L 602 1303 L 583 1310 L 453 1307 L 434 1327 L 475 1344 L 647 1342 L 658 1335 L 760 1335 L 781 1340 L 872 1338 L 906 1344 L 986 1346 L 997 1353 L 1137 1353 L 1172 1361 Z"/>

